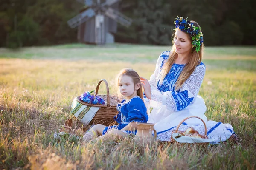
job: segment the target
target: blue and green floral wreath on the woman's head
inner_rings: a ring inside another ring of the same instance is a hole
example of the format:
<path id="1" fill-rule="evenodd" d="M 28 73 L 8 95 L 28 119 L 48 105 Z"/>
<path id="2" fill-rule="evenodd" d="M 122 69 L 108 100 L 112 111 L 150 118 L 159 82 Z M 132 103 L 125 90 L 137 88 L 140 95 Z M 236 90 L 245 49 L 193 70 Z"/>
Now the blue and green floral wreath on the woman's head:
<path id="1" fill-rule="evenodd" d="M 183 17 L 177 16 L 176 21 L 174 21 L 175 28 L 179 28 L 181 31 L 189 33 L 192 38 L 192 47 L 195 47 L 195 51 L 200 51 L 201 44 L 204 42 L 203 34 L 200 31 L 201 27 L 194 26 L 193 23 L 183 19 Z"/>

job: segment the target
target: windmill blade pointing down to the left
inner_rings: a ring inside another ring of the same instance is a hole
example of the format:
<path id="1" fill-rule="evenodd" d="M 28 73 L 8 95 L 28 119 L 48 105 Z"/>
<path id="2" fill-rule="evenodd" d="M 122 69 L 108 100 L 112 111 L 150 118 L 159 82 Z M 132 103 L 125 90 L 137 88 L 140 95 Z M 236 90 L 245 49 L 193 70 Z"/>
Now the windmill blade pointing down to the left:
<path id="1" fill-rule="evenodd" d="M 79 24 L 84 23 L 94 15 L 94 10 L 89 8 L 81 14 L 78 14 L 76 17 L 73 17 L 72 19 L 68 20 L 67 23 L 71 28 L 76 28 L 77 26 L 79 26 Z"/>

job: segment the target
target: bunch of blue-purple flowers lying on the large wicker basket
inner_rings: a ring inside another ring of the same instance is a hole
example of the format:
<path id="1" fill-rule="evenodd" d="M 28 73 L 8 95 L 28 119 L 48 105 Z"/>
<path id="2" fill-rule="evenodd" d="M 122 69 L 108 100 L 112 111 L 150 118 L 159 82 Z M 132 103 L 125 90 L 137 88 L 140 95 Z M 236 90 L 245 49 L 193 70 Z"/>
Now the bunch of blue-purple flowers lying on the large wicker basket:
<path id="1" fill-rule="evenodd" d="M 105 100 L 102 99 L 100 96 L 91 95 L 93 91 L 94 90 L 84 92 L 83 94 L 81 94 L 79 99 L 90 104 L 105 105 Z"/>

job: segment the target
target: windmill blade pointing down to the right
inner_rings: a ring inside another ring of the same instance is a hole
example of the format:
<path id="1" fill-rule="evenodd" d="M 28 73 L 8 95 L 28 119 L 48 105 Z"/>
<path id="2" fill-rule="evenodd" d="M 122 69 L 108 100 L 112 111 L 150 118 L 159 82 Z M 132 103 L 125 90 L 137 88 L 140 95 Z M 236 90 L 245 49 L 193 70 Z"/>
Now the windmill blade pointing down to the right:
<path id="1" fill-rule="evenodd" d="M 103 11 L 105 11 L 105 15 L 112 18 L 116 22 L 124 25 L 124 26 L 130 26 L 132 19 L 129 17 L 126 17 L 124 14 L 120 13 L 119 11 L 114 10 L 113 8 L 102 8 Z"/>

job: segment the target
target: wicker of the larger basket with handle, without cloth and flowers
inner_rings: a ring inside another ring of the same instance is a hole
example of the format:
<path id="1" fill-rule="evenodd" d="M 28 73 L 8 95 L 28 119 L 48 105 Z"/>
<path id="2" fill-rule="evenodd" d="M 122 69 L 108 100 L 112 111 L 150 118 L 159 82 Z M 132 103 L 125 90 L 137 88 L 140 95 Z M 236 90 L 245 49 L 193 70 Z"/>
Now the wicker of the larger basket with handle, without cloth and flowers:
<path id="1" fill-rule="evenodd" d="M 98 85 L 96 86 L 96 90 L 94 94 L 95 96 L 98 95 L 99 85 L 101 84 L 101 82 L 105 82 L 107 95 L 99 95 L 99 96 L 102 97 L 105 101 L 107 101 L 107 105 L 90 104 L 90 103 L 81 101 L 79 99 L 79 96 L 76 97 L 76 100 L 83 105 L 100 107 L 99 110 L 96 112 L 95 116 L 93 117 L 93 119 L 90 121 L 89 125 L 102 124 L 105 126 L 109 126 L 109 125 L 117 124 L 114 120 L 114 116 L 116 116 L 116 113 L 117 113 L 116 105 L 122 101 L 117 96 L 109 95 L 108 82 L 105 79 L 99 80 Z"/>

